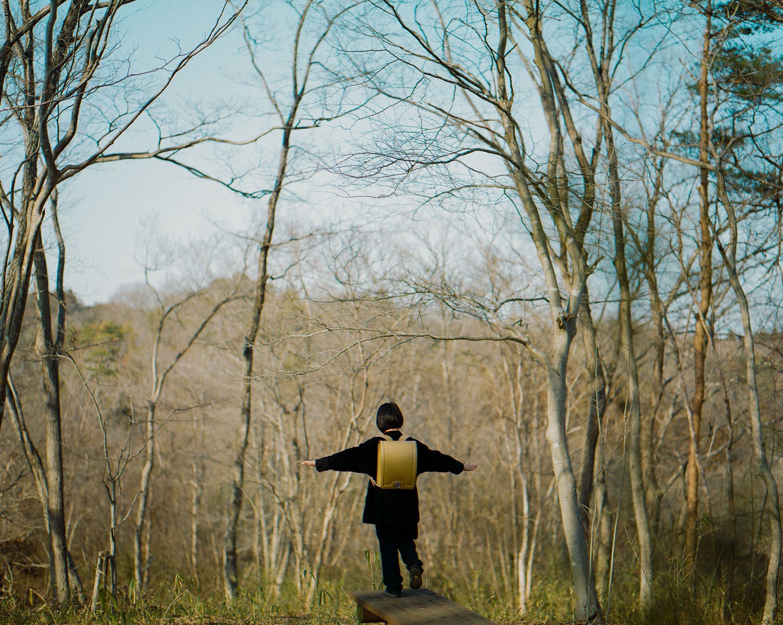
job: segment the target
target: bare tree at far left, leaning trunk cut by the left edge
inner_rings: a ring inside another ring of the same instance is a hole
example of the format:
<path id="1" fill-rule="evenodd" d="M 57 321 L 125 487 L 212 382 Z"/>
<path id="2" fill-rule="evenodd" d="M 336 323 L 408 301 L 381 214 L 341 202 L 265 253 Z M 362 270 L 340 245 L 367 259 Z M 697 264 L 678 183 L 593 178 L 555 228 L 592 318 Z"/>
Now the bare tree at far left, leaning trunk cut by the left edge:
<path id="1" fill-rule="evenodd" d="M 16 145 L 18 165 L 10 168 L 10 179 L 0 185 L 7 229 L 0 309 L 0 426 L 6 379 L 19 341 L 34 257 L 40 250 L 41 223 L 52 192 L 63 181 L 105 159 L 110 146 L 150 108 L 175 75 L 225 33 L 236 18 L 236 13 L 226 16 L 224 6 L 215 27 L 199 45 L 175 61 L 164 83 L 135 110 L 111 121 L 97 148 L 83 153 L 78 141 L 83 105 L 96 90 L 114 83 L 104 82 L 99 67 L 114 52 L 111 40 L 115 20 L 128 4 L 127 0 L 99 4 L 52 0 L 36 13 L 31 13 L 27 2 L 16 7 L 9 2 L 3 5 L 5 41 L 0 54 L 0 88 L 11 116 L 3 124 L 3 131 Z"/>

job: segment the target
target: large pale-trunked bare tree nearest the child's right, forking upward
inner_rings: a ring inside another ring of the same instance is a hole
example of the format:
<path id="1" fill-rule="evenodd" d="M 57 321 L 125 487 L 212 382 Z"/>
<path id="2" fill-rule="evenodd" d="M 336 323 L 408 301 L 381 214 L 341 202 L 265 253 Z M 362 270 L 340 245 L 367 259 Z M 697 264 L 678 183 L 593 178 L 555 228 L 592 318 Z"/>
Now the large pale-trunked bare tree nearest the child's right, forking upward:
<path id="1" fill-rule="evenodd" d="M 453 152 L 442 148 L 443 153 L 432 154 L 432 142 L 425 142 L 422 153 L 399 154 L 395 163 L 407 163 L 406 171 L 417 167 L 431 167 L 444 163 L 459 162 L 474 153 L 497 156 L 507 172 L 507 182 L 496 181 L 488 174 L 489 185 L 500 185 L 507 195 L 518 203 L 518 211 L 525 216 L 525 228 L 535 246 L 543 281 L 545 299 L 549 307 L 548 346 L 538 349 L 523 336 L 515 340 L 527 345 L 539 360 L 549 377 L 547 440 L 550 442 L 552 462 L 556 475 L 557 492 L 565 528 L 565 539 L 571 557 L 573 588 L 576 598 L 577 618 L 592 617 L 601 612 L 595 594 L 594 578 L 590 556 L 586 547 L 583 526 L 577 501 L 576 480 L 572 471 L 568 440 L 565 433 L 566 415 L 566 368 L 572 339 L 576 332 L 576 316 L 581 306 L 588 266 L 580 246 L 577 232 L 583 232 L 590 224 L 592 203 L 583 205 L 579 221 L 574 223 L 568 211 L 567 174 L 564 169 L 564 133 L 559 119 L 562 105 L 554 84 L 557 81 L 555 66 L 543 36 L 543 16 L 533 2 L 524 2 L 518 11 L 516 6 L 500 3 L 492 8 L 476 8 L 475 13 L 464 16 L 466 23 L 478 19 L 482 27 L 467 26 L 466 36 L 476 35 L 474 50 L 486 55 L 480 62 L 486 63 L 485 74 L 474 75 L 470 66 L 460 63 L 465 52 L 454 46 L 457 39 L 451 38 L 443 21 L 443 13 L 435 5 L 435 19 L 441 20 L 435 32 L 427 32 L 422 17 L 410 19 L 402 8 L 391 2 L 383 2 L 381 8 L 399 27 L 399 34 L 380 31 L 368 26 L 372 36 L 388 50 L 392 58 L 402 58 L 410 66 L 417 67 L 421 75 L 433 81 L 449 85 L 464 98 L 467 114 L 451 112 L 450 105 L 416 99 L 416 93 L 395 95 L 405 102 L 412 102 L 420 110 L 435 117 L 441 117 L 448 128 L 453 129 L 459 140 Z M 469 9 L 468 9 L 469 10 Z M 489 27 L 493 33 L 490 35 Z M 519 33 L 518 37 L 515 33 Z M 431 43 L 437 37 L 438 44 Z M 531 58 L 522 56 L 518 39 L 527 38 Z M 546 120 L 548 153 L 540 169 L 532 165 L 525 149 L 524 136 L 514 110 L 514 83 L 507 57 L 512 49 L 521 56 L 521 65 L 526 67 L 538 88 L 541 114 Z M 466 59 L 467 60 L 467 59 Z M 471 59 L 475 63 L 475 59 Z M 383 87 L 381 87 L 383 89 Z M 563 105 L 565 106 L 565 105 Z M 563 113 L 566 114 L 565 112 Z M 579 133 L 566 133 L 572 145 L 580 142 Z M 467 145 L 462 145 L 465 142 Z M 446 143 L 446 142 L 445 142 Z M 391 156 L 398 156 L 391 154 Z M 381 162 L 388 162 L 388 155 L 377 155 Z M 383 170 L 385 166 L 379 168 Z M 590 195 L 589 172 L 586 179 L 586 196 Z M 543 214 L 542 214 L 543 210 Z M 543 215 L 553 224 L 554 232 L 548 232 Z M 583 236 L 583 235 L 582 235 Z M 559 245 L 559 254 L 554 246 Z M 560 270 L 559 273 L 557 270 Z M 495 311 L 498 309 L 496 308 Z M 501 324 L 502 325 L 502 324 Z M 512 332 L 514 332 L 512 330 Z"/>

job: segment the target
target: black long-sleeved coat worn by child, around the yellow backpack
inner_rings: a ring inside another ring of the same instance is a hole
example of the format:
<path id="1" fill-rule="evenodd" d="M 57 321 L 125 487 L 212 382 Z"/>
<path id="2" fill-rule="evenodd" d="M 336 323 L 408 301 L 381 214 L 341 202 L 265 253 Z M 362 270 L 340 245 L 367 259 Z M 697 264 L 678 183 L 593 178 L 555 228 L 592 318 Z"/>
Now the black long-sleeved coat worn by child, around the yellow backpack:
<path id="1" fill-rule="evenodd" d="M 389 432 L 394 440 L 402 436 L 400 432 Z M 318 458 L 316 469 L 319 471 L 352 471 L 365 473 L 376 478 L 378 467 L 378 443 L 384 440 L 381 436 L 375 436 L 366 440 L 357 447 L 350 447 L 336 454 Z M 406 440 L 416 440 L 408 436 Z M 430 449 L 419 440 L 417 444 L 417 475 L 428 471 L 446 473 L 452 472 L 459 475 L 463 471 L 462 462 L 455 460 L 440 451 Z M 415 526 L 419 522 L 419 491 L 411 490 L 384 490 L 367 482 L 367 497 L 364 502 L 364 523 L 371 525 L 406 525 Z"/>

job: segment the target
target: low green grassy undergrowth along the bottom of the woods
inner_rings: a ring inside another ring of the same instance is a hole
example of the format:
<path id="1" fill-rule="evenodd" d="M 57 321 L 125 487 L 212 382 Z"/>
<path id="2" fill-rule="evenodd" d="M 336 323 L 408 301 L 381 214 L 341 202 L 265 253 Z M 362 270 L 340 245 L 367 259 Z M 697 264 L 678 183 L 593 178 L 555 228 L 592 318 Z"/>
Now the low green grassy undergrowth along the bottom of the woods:
<path id="1" fill-rule="evenodd" d="M 473 609 L 500 625 L 555 625 L 575 623 L 569 606 L 573 604 L 569 584 L 561 577 L 541 576 L 537 580 L 528 609 L 521 613 L 511 605 L 508 595 L 482 582 L 475 574 L 471 580 L 456 580 L 446 575 L 431 575 L 428 587 Z M 615 578 L 611 597 L 602 604 L 608 608 L 612 625 L 756 625 L 760 622 L 763 593 L 750 586 L 727 593 L 716 580 L 691 587 L 677 577 L 659 578 L 654 601 L 646 613 L 639 610 L 637 577 Z M 345 588 L 370 589 L 373 577 L 361 584 L 345 581 Z M 316 601 L 305 606 L 294 580 L 283 584 L 275 597 L 262 587 L 240 591 L 232 602 L 222 594 L 209 591 L 194 580 L 176 576 L 170 584 L 161 584 L 155 594 L 124 592 L 120 597 L 102 594 L 96 609 L 83 605 L 59 606 L 44 602 L 30 593 L 20 598 L 0 595 L 0 625 L 354 625 L 355 605 L 340 582 L 319 587 Z M 783 619 L 778 618 L 778 623 Z"/>

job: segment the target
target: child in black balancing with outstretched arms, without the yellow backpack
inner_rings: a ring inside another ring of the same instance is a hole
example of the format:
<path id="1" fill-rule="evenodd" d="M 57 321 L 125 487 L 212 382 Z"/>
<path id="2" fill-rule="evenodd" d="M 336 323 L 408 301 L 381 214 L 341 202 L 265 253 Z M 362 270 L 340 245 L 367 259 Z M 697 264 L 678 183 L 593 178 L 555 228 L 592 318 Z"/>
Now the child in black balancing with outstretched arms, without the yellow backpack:
<path id="1" fill-rule="evenodd" d="M 375 422 L 378 429 L 391 436 L 393 440 L 402 438 L 402 411 L 393 402 L 381 404 L 378 408 Z M 352 471 L 365 473 L 372 480 L 376 479 L 378 462 L 378 443 L 384 440 L 375 436 L 366 440 L 358 447 L 350 447 L 336 454 L 305 460 L 302 465 L 314 466 L 321 471 Z M 416 440 L 408 436 L 406 440 Z M 464 465 L 451 456 L 430 449 L 424 443 L 417 444 L 417 475 L 428 471 L 452 472 L 459 475 L 463 471 L 474 471 L 477 465 Z M 375 486 L 370 480 L 367 483 L 367 497 L 364 503 L 364 523 L 375 526 L 378 544 L 381 550 L 381 569 L 384 574 L 386 594 L 391 597 L 402 597 L 402 575 L 399 571 L 397 552 L 402 555 L 410 573 L 410 587 L 421 587 L 421 574 L 424 565 L 416 553 L 415 539 L 419 537 L 419 493 L 412 490 L 384 490 Z"/>

